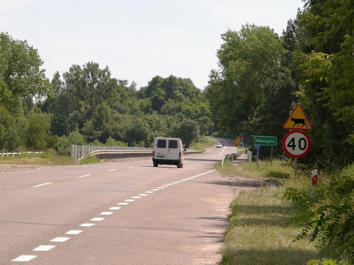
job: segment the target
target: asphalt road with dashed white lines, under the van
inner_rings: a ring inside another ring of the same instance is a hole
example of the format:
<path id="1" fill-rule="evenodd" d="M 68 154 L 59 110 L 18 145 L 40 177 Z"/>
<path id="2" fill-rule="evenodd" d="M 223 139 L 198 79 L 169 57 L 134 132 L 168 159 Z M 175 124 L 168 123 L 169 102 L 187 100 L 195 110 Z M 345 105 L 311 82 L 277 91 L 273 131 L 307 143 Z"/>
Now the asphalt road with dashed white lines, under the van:
<path id="1" fill-rule="evenodd" d="M 221 140 L 219 140 L 221 141 Z M 0 174 L 0 265 L 217 264 L 235 190 L 213 170 L 234 148 Z"/>

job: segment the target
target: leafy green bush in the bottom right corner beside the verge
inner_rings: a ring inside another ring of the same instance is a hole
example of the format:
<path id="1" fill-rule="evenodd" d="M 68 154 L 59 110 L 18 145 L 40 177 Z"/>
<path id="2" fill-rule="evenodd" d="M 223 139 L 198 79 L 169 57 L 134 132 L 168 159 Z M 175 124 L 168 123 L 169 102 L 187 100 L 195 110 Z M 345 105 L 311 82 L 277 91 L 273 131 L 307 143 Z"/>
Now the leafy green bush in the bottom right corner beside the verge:
<path id="1" fill-rule="evenodd" d="M 354 165 L 322 179 L 316 191 L 287 187 L 285 198 L 297 208 L 295 222 L 304 226 L 297 240 L 311 235 L 318 247 L 333 247 L 354 261 Z"/>

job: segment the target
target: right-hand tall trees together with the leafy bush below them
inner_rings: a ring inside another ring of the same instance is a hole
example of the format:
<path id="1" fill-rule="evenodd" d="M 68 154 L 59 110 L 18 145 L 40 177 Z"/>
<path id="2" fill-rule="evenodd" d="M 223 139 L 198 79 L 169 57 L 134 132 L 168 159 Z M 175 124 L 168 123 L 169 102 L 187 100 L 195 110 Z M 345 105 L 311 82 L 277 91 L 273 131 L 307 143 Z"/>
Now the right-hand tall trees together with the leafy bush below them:
<path id="1" fill-rule="evenodd" d="M 318 168 L 320 181 L 314 192 L 310 185 L 287 187 L 284 198 L 295 208 L 292 220 L 303 227 L 297 239 L 309 235 L 316 247 L 331 247 L 342 259 L 309 264 L 352 264 L 354 6 L 350 0 L 304 4 L 280 37 L 257 25 L 224 33 L 206 97 L 217 127 L 249 143 L 256 135 L 281 142 L 287 133 L 282 125 L 302 105 L 312 124 L 312 146 L 299 159 L 300 169 L 309 175 Z M 282 154 L 281 144 L 275 153 Z"/>

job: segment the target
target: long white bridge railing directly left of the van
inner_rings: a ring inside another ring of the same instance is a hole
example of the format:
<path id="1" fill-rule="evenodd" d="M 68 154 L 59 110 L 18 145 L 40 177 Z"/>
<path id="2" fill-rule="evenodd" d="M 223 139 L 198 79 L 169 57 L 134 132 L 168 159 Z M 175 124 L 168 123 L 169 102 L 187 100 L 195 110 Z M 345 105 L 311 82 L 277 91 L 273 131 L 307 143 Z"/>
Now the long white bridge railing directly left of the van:
<path id="1" fill-rule="evenodd" d="M 79 160 L 96 151 L 113 151 L 113 153 L 127 152 L 127 151 L 152 151 L 152 148 L 144 147 L 122 147 L 122 146 L 74 146 L 72 145 L 72 158 Z"/>

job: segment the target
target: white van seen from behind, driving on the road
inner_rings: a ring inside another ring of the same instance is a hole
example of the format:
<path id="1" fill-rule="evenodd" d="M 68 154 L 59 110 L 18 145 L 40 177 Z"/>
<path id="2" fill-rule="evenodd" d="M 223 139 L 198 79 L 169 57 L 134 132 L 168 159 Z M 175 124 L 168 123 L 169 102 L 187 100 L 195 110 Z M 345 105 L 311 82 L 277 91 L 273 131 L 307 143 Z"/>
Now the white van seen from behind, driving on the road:
<path id="1" fill-rule="evenodd" d="M 152 162 L 158 165 L 183 167 L 183 145 L 179 138 L 156 137 L 152 149 Z"/>

